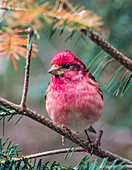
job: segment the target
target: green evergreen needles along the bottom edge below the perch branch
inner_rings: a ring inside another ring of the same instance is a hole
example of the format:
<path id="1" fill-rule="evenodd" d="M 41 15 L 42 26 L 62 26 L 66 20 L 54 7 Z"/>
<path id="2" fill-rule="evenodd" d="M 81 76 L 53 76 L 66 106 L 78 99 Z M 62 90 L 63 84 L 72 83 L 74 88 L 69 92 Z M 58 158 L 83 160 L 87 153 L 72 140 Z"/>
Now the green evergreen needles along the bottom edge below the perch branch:
<path id="1" fill-rule="evenodd" d="M 23 170 L 23 169 L 39 169 L 39 170 L 123 170 L 127 165 L 124 163 L 116 165 L 117 160 L 108 163 L 108 158 L 104 158 L 102 162 L 97 165 L 97 158 L 95 160 L 90 160 L 90 157 L 84 156 L 80 163 L 76 167 L 63 166 L 61 163 L 54 161 L 51 165 L 48 165 L 50 161 L 44 163 L 43 159 L 40 158 L 36 162 L 34 160 L 29 160 L 26 157 L 20 157 L 19 154 L 21 150 L 17 150 L 18 144 L 14 144 L 9 141 L 9 138 L 2 143 L 0 138 L 0 169 L 12 169 L 12 170 Z M 76 147 L 75 147 L 76 148 Z M 75 150 L 74 150 L 75 151 Z M 72 153 L 73 155 L 73 153 Z"/>

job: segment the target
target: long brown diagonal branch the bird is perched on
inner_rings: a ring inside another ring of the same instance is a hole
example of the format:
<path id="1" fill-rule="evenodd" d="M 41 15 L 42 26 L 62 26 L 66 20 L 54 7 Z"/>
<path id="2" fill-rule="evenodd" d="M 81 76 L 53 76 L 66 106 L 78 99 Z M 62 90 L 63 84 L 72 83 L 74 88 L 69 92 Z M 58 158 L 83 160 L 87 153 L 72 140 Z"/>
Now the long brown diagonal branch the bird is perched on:
<path id="1" fill-rule="evenodd" d="M 67 131 L 64 128 L 57 126 L 51 120 L 49 120 L 48 118 L 45 118 L 44 116 L 38 114 L 37 112 L 35 112 L 29 108 L 24 109 L 21 106 L 11 103 L 3 98 L 0 98 L 0 105 L 4 106 L 6 108 L 10 108 L 11 110 L 15 111 L 15 114 L 25 115 L 25 116 L 35 120 L 36 122 L 39 122 L 39 123 L 47 126 L 48 128 L 59 133 L 60 135 L 65 136 L 66 138 L 68 138 L 72 142 L 76 143 L 77 145 L 80 145 L 87 152 L 89 152 L 89 153 L 91 152 L 91 148 L 89 145 L 87 145 L 86 141 L 78 138 L 73 133 L 67 133 Z M 11 113 L 9 113 L 7 115 L 11 115 Z M 94 146 L 93 154 L 100 158 L 108 157 L 108 161 L 114 161 L 115 159 L 117 159 L 118 160 L 117 163 L 125 162 L 128 165 L 132 165 L 132 161 L 125 159 L 123 157 L 120 157 L 120 156 L 118 156 L 114 153 L 111 153 L 109 151 L 103 150 L 102 148 L 97 148 L 96 146 Z"/>

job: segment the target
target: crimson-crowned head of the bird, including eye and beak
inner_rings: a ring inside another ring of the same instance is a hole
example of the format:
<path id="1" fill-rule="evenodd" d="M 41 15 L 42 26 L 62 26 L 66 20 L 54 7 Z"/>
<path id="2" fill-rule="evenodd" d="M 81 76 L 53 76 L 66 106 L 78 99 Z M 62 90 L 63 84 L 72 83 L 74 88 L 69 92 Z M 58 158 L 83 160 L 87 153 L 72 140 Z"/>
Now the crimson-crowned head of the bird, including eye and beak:
<path id="1" fill-rule="evenodd" d="M 51 68 L 48 72 L 54 76 L 63 76 L 66 72 L 80 71 L 83 73 L 85 70 L 85 65 L 70 51 L 60 51 L 52 58 Z"/>

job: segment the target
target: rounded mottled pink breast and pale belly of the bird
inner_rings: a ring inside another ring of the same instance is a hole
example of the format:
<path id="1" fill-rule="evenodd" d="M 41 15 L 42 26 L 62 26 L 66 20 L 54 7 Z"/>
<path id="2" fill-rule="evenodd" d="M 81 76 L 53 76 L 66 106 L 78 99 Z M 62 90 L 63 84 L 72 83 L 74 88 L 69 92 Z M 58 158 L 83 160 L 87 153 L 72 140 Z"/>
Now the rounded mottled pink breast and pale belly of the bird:
<path id="1" fill-rule="evenodd" d="M 51 84 L 46 110 L 56 124 L 82 131 L 101 117 L 103 101 L 86 81 Z"/>

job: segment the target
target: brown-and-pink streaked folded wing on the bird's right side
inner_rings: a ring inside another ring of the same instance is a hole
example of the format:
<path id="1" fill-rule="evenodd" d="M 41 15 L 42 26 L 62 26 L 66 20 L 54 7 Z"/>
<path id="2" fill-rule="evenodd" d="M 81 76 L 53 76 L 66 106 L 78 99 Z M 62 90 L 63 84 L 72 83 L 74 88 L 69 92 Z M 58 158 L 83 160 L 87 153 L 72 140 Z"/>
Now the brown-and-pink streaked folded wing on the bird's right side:
<path id="1" fill-rule="evenodd" d="M 87 71 L 87 72 L 88 72 L 88 71 Z M 88 82 L 89 82 L 91 85 L 93 85 L 93 86 L 95 86 L 95 87 L 97 88 L 98 93 L 100 94 L 100 96 L 101 96 L 101 98 L 102 98 L 102 100 L 103 100 L 103 92 L 102 92 L 99 84 L 97 83 L 97 81 L 95 80 L 95 78 L 93 77 L 93 75 L 92 75 L 91 73 L 88 72 L 87 74 L 88 74 Z"/>

